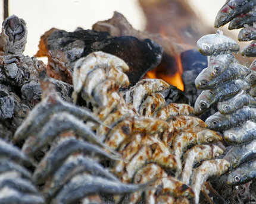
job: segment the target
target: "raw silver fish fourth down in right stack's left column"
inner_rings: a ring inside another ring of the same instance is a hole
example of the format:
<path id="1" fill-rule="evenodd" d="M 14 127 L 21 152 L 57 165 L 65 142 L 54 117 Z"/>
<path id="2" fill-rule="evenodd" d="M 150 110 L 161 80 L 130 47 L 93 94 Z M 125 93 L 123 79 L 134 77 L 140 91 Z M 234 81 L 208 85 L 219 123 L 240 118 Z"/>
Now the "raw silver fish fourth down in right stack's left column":
<path id="1" fill-rule="evenodd" d="M 244 106 L 232 114 L 223 115 L 219 112 L 213 114 L 205 120 L 209 129 L 223 131 L 242 125 L 247 120 L 255 120 L 256 109 Z"/>

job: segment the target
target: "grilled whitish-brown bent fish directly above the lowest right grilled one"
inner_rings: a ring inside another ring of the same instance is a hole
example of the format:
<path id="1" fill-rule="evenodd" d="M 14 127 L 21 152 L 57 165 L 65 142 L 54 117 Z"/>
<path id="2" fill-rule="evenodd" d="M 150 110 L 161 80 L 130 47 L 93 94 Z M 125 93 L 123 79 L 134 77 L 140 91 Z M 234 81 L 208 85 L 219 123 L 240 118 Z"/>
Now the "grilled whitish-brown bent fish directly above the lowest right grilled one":
<path id="1" fill-rule="evenodd" d="M 193 165 L 197 162 L 210 160 L 223 154 L 223 149 L 216 145 L 195 145 L 189 149 L 184 157 L 184 167 L 181 180 L 185 184 L 189 184 L 189 179 L 192 174 Z"/>

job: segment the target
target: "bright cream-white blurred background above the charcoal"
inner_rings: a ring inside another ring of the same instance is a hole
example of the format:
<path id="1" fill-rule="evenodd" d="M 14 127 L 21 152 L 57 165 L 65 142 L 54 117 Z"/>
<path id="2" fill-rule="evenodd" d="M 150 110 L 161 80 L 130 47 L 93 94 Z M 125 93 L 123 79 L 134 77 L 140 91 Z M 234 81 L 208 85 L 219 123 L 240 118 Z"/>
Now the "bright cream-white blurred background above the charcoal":
<path id="1" fill-rule="evenodd" d="M 183 1 L 183 0 L 180 0 Z M 148 4 L 156 2 L 148 0 Z M 159 2 L 159 1 L 158 1 Z M 188 0 L 195 14 L 205 25 L 214 27 L 214 18 L 223 0 Z M 0 0 L 3 7 L 4 0 Z M 9 0 L 9 15 L 23 18 L 29 31 L 25 55 L 35 55 L 40 36 L 52 27 L 74 31 L 77 27 L 92 28 L 97 21 L 107 20 L 118 11 L 138 30 L 145 30 L 147 18 L 138 0 Z M 3 8 L 0 20 L 4 20 Z M 235 36 L 237 36 L 235 34 Z"/>

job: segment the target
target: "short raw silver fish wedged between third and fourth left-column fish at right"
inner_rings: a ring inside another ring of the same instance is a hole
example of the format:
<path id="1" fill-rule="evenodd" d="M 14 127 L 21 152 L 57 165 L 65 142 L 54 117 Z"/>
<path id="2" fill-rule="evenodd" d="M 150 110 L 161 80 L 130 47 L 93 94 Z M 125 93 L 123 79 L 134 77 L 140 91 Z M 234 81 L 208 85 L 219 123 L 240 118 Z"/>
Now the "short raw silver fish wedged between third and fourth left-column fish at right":
<path id="1" fill-rule="evenodd" d="M 230 114 L 243 106 L 256 107 L 256 100 L 251 95 L 241 91 L 229 100 L 218 102 L 217 109 L 221 114 Z"/>

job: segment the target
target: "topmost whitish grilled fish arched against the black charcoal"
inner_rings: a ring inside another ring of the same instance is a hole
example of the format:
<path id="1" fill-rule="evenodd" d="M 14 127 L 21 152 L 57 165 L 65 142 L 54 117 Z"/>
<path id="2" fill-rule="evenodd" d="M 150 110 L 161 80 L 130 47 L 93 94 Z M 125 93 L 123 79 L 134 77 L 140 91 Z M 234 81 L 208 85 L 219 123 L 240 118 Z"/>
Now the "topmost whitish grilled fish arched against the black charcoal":
<path id="1" fill-rule="evenodd" d="M 74 65 L 73 73 L 73 87 L 74 92 L 72 94 L 73 100 L 76 103 L 77 95 L 83 90 L 86 78 L 92 69 L 98 67 L 111 67 L 114 66 L 120 71 L 128 71 L 129 66 L 117 56 L 110 55 L 104 52 L 92 52 L 85 58 L 80 58 Z"/>

